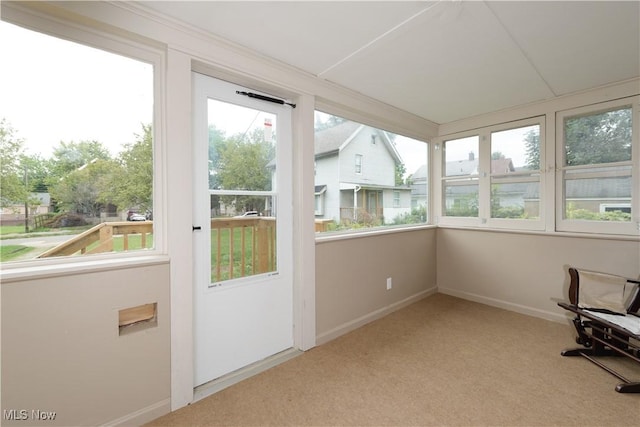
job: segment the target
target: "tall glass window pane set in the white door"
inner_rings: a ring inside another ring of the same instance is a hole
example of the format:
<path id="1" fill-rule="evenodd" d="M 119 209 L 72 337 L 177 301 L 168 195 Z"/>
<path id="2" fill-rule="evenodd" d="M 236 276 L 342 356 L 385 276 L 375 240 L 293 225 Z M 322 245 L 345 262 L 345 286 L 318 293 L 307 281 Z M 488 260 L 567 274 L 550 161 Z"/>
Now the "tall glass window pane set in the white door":
<path id="1" fill-rule="evenodd" d="M 207 106 L 211 282 L 276 271 L 276 115 Z"/>

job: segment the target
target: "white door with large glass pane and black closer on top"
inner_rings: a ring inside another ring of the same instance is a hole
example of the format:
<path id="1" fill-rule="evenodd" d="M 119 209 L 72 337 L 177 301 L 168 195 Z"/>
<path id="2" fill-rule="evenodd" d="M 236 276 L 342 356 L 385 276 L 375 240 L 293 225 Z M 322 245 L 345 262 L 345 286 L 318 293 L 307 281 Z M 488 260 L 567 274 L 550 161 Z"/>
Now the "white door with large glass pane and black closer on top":
<path id="1" fill-rule="evenodd" d="M 198 73 L 193 88 L 198 386 L 293 346 L 292 107 Z"/>

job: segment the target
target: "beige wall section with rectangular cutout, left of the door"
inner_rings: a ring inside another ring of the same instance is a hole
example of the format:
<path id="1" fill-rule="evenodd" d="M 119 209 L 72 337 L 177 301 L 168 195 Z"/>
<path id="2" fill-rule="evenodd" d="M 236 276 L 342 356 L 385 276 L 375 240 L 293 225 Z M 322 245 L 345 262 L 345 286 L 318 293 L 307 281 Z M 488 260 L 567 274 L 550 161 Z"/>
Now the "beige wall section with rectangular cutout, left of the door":
<path id="1" fill-rule="evenodd" d="M 141 424 L 170 408 L 169 264 L 2 283 L 3 425 Z M 119 334 L 119 310 L 157 303 L 157 325 Z M 32 410 L 55 412 L 38 422 Z M 4 412 L 3 412 L 4 415 Z"/>

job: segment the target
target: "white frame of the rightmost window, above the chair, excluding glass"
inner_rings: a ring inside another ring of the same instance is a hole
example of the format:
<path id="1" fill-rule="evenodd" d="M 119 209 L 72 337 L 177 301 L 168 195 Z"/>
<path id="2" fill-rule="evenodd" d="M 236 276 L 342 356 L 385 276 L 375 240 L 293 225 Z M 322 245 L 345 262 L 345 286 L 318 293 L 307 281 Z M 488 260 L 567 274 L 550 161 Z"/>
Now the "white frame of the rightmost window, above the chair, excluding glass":
<path id="1" fill-rule="evenodd" d="M 625 107 L 631 108 L 631 160 L 598 165 L 565 166 L 565 120 L 587 117 Z M 640 96 L 630 96 L 613 101 L 581 106 L 556 112 L 556 176 L 555 221 L 556 230 L 575 233 L 612 235 L 640 235 Z M 607 166 L 631 168 L 631 221 L 594 221 L 565 218 L 565 172 L 575 169 L 597 169 Z M 635 197 L 634 197 L 635 196 Z"/>

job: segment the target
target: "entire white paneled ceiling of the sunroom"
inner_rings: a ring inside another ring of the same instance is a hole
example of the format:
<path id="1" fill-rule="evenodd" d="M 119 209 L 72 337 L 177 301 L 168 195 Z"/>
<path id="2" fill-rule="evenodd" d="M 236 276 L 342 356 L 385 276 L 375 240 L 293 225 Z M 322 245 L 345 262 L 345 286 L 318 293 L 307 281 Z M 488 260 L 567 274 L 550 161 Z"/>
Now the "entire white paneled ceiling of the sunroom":
<path id="1" fill-rule="evenodd" d="M 436 123 L 640 76 L 638 1 L 141 5 Z"/>

